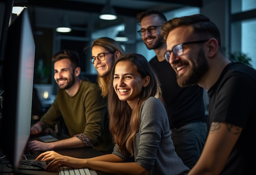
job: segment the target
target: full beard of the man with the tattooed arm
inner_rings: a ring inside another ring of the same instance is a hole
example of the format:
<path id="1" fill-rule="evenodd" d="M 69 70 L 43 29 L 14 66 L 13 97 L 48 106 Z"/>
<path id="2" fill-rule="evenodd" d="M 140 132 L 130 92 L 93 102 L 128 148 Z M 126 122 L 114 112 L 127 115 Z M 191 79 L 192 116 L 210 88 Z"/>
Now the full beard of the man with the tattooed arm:
<path id="1" fill-rule="evenodd" d="M 209 70 L 207 59 L 204 55 L 203 48 L 200 48 L 196 61 L 192 62 L 192 68 L 189 75 L 181 76 L 177 74 L 177 83 L 180 87 L 186 87 L 189 85 L 197 84 L 204 74 Z"/>

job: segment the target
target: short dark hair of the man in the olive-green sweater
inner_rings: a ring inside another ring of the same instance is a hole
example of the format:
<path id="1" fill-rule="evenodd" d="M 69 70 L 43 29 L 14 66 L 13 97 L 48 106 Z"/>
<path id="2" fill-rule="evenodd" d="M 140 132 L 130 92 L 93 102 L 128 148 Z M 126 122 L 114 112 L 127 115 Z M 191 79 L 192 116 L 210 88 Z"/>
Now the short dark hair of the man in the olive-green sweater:
<path id="1" fill-rule="evenodd" d="M 70 59 L 73 69 L 80 67 L 79 55 L 76 51 L 72 50 L 61 50 L 54 54 L 52 57 L 52 62 L 60 61 L 61 59 Z"/>

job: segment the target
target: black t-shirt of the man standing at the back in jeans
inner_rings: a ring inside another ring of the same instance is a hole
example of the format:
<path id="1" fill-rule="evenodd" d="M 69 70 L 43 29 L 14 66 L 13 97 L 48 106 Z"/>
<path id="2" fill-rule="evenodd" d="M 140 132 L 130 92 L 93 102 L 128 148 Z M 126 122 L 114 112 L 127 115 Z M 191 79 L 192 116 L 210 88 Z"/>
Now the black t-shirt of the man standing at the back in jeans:
<path id="1" fill-rule="evenodd" d="M 205 122 L 203 88 L 198 85 L 181 88 L 177 84 L 175 71 L 165 60 L 159 62 L 155 56 L 149 63 L 161 83 L 165 107 L 171 118 L 171 128 L 182 127 L 188 123 Z"/>

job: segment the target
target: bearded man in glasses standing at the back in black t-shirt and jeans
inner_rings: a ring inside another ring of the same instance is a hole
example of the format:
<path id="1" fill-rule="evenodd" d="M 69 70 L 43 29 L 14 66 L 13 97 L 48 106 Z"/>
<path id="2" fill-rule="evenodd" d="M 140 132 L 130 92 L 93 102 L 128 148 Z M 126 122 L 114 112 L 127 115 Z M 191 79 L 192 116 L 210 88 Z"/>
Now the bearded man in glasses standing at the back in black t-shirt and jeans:
<path id="1" fill-rule="evenodd" d="M 149 63 L 162 85 L 160 100 L 169 116 L 175 151 L 184 164 L 192 168 L 200 157 L 207 135 L 203 88 L 198 85 L 181 88 L 177 84 L 175 71 L 164 57 L 167 49 L 162 41 L 161 28 L 166 21 L 164 14 L 159 11 L 137 14 L 137 22 L 141 26 L 138 33 L 148 50 L 153 49 L 156 54 Z M 176 49 L 179 51 L 180 46 L 175 47 L 173 53 L 176 53 Z"/>

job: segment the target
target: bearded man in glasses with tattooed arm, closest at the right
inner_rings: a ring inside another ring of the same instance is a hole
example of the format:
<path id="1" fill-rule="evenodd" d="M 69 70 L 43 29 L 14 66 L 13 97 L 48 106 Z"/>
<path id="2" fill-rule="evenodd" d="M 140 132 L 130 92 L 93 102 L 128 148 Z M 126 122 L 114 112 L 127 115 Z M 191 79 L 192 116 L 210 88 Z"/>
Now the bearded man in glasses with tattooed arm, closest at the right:
<path id="1" fill-rule="evenodd" d="M 188 175 L 247 175 L 256 156 L 256 70 L 231 62 L 216 24 L 201 14 L 173 18 L 162 26 L 164 54 L 181 87 L 207 90 L 207 140 Z M 248 158 L 248 156 L 250 158 Z"/>

